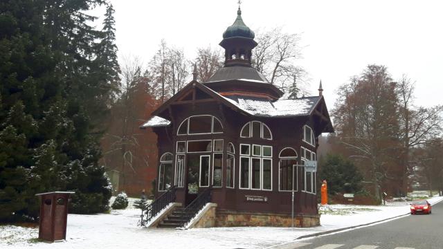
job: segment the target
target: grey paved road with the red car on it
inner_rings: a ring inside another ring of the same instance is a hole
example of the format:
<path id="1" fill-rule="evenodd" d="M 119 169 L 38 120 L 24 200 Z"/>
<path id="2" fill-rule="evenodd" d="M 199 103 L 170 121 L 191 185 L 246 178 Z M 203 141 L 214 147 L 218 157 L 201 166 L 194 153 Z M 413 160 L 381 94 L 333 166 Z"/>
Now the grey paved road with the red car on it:
<path id="1" fill-rule="evenodd" d="M 432 214 L 408 215 L 379 225 L 300 241 L 301 249 L 443 249 L 443 201 Z"/>

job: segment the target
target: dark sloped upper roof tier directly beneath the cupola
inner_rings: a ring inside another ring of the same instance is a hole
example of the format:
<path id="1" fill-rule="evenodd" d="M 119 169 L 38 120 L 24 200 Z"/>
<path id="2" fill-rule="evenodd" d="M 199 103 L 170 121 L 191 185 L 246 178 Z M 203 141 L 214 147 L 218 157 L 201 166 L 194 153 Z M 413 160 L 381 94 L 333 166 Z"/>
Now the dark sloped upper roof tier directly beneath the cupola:
<path id="1" fill-rule="evenodd" d="M 269 81 L 255 68 L 248 66 L 228 66 L 220 68 L 205 83 L 221 82 L 226 80 L 242 80 L 269 84 Z"/>

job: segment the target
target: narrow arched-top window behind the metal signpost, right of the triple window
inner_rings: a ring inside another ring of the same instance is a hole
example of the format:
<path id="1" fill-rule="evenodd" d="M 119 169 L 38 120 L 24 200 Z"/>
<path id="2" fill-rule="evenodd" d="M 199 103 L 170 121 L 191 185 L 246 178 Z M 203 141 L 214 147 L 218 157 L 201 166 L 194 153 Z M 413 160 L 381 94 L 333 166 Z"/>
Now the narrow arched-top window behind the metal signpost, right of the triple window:
<path id="1" fill-rule="evenodd" d="M 278 155 L 278 181 L 280 191 L 297 191 L 297 151 L 284 148 Z"/>

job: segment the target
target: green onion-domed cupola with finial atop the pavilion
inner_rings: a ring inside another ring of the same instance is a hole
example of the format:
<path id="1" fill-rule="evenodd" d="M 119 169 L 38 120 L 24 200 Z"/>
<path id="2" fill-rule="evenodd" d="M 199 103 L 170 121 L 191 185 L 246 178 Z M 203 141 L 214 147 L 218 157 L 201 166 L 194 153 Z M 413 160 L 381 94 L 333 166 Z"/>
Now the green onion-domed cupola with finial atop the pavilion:
<path id="1" fill-rule="evenodd" d="M 220 46 L 224 48 L 224 66 L 251 66 L 252 50 L 257 46 L 255 34 L 244 24 L 240 6 L 234 24 L 226 28 Z"/>

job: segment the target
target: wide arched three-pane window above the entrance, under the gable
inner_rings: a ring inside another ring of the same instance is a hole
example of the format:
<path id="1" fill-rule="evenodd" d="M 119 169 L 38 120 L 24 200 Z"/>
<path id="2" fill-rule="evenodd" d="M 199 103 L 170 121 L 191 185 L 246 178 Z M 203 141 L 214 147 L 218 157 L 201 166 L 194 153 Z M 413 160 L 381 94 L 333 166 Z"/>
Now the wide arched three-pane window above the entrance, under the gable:
<path id="1" fill-rule="evenodd" d="M 218 118 L 210 115 L 190 116 L 181 122 L 177 135 L 223 133 L 223 125 Z"/>

